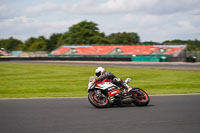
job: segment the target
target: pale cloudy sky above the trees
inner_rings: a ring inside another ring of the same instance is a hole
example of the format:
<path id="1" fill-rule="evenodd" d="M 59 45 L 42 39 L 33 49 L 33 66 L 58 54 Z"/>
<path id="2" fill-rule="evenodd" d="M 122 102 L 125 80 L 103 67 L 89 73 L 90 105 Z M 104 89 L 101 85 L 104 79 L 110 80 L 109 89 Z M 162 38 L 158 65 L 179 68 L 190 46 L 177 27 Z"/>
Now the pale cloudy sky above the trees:
<path id="1" fill-rule="evenodd" d="M 200 0 L 0 0 L 0 39 L 48 38 L 84 20 L 143 42 L 200 39 Z"/>

